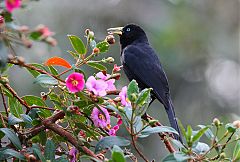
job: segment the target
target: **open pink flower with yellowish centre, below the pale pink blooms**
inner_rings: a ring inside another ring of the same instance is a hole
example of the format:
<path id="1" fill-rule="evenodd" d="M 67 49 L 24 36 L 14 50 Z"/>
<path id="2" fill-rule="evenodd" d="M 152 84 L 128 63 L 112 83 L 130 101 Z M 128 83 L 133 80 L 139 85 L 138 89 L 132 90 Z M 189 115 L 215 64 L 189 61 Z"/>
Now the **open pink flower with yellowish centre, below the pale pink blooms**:
<path id="1" fill-rule="evenodd" d="M 98 108 L 94 107 L 91 114 L 91 119 L 96 127 L 105 128 L 110 125 L 110 115 L 107 109 L 100 107 L 102 112 Z"/>

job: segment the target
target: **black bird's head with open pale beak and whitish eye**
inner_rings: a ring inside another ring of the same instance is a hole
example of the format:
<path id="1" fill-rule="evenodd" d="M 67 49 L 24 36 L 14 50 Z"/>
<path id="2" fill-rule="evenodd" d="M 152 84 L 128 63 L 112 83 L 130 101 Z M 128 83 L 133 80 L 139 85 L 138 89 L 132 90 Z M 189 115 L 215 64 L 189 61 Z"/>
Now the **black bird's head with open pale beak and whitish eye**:
<path id="1" fill-rule="evenodd" d="M 120 44 L 122 48 L 133 42 L 148 42 L 144 30 L 135 24 L 128 24 L 125 27 L 109 28 L 109 34 L 118 34 L 120 36 Z"/>

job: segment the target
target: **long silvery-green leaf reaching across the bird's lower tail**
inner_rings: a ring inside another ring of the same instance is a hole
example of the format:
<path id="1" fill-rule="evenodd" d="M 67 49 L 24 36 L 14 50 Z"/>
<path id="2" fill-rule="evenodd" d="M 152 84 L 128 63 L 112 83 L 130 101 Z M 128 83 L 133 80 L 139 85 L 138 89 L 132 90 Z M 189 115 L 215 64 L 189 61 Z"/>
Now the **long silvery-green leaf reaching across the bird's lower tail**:
<path id="1" fill-rule="evenodd" d="M 174 128 L 168 126 L 147 127 L 141 131 L 141 134 L 145 137 L 153 133 L 174 133 L 178 135 L 178 132 Z"/>

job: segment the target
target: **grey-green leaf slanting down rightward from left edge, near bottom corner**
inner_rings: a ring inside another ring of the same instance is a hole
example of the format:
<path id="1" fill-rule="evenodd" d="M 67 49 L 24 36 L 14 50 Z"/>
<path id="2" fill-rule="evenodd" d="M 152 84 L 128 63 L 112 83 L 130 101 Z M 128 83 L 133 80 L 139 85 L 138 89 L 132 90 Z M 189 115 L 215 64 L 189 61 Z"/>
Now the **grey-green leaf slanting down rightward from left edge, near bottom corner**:
<path id="1" fill-rule="evenodd" d="M 12 142 L 12 144 L 18 150 L 22 149 L 21 142 L 20 142 L 18 136 L 15 134 L 15 132 L 13 132 L 11 129 L 8 129 L 8 128 L 0 128 L 0 131 L 3 132 L 8 137 L 8 139 Z"/>

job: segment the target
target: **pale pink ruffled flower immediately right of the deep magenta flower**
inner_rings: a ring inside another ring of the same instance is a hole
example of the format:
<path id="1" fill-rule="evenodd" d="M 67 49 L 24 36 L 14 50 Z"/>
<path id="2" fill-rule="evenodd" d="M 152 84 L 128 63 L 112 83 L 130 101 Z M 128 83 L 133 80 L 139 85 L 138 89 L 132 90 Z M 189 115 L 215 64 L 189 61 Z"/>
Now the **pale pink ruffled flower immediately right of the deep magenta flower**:
<path id="1" fill-rule="evenodd" d="M 105 96 L 108 84 L 104 80 L 96 80 L 93 76 L 90 76 L 86 82 L 86 87 L 89 91 L 93 92 L 97 96 Z"/>

